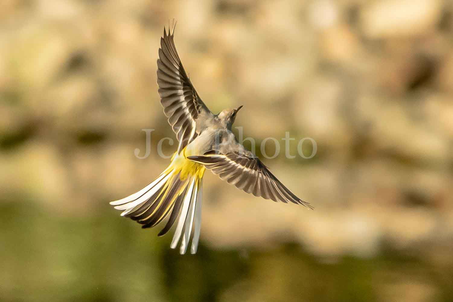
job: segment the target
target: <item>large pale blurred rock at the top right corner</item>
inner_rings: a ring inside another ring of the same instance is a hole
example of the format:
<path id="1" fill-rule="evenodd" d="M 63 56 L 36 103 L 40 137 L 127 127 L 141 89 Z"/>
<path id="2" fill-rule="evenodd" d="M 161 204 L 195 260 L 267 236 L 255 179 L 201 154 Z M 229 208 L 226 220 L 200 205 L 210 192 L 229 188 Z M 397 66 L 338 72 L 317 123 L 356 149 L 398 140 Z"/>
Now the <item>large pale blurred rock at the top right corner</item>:
<path id="1" fill-rule="evenodd" d="M 361 12 L 362 30 L 368 38 L 422 34 L 434 28 L 441 4 L 440 0 L 373 1 Z"/>

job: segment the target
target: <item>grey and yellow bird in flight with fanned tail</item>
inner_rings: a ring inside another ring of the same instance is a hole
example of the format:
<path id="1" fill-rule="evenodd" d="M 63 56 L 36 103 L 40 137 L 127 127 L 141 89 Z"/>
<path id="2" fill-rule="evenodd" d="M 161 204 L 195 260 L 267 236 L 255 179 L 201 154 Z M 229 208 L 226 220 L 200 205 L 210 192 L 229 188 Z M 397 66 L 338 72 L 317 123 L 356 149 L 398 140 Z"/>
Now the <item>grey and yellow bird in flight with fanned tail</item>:
<path id="1" fill-rule="evenodd" d="M 201 227 L 203 174 L 206 169 L 231 185 L 257 197 L 293 202 L 313 209 L 285 187 L 252 152 L 239 144 L 231 127 L 242 108 L 225 109 L 213 114 L 193 87 L 179 59 L 173 30 L 160 38 L 157 84 L 160 103 L 178 139 L 178 150 L 170 165 L 153 182 L 128 197 L 110 204 L 150 228 L 169 216 L 159 236 L 166 234 L 178 220 L 173 240 L 181 240 L 185 254 L 193 230 L 190 252 L 197 252 Z M 179 218 L 178 218 L 179 216 Z M 181 239 L 182 237 L 182 239 Z"/>

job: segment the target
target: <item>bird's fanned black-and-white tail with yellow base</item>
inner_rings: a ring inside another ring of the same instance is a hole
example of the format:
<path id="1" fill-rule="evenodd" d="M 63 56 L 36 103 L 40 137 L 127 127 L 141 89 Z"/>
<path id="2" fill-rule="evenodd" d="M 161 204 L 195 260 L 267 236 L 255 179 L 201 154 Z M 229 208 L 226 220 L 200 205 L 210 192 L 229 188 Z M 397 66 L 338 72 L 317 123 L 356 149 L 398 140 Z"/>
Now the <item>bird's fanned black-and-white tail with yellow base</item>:
<path id="1" fill-rule="evenodd" d="M 193 228 L 190 252 L 195 254 L 200 238 L 202 178 L 205 168 L 188 160 L 183 154 L 184 152 L 175 153 L 169 167 L 139 192 L 111 201 L 110 204 L 123 211 L 121 216 L 142 224 L 142 228 L 157 225 L 171 212 L 159 236 L 170 230 L 181 212 L 170 247 L 176 248 L 182 235 L 179 251 L 185 254 Z"/>

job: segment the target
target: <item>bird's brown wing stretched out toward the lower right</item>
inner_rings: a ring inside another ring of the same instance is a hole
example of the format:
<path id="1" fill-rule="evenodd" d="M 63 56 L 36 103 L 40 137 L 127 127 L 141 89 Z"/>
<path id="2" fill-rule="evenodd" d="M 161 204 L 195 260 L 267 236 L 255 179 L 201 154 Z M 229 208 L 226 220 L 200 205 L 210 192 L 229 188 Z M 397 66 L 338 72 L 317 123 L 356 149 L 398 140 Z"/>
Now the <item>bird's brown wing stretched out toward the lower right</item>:
<path id="1" fill-rule="evenodd" d="M 188 159 L 202 163 L 212 173 L 247 193 L 273 201 L 291 201 L 313 209 L 308 202 L 289 191 L 251 152 L 219 154 L 211 150 L 202 156 L 189 156 Z"/>

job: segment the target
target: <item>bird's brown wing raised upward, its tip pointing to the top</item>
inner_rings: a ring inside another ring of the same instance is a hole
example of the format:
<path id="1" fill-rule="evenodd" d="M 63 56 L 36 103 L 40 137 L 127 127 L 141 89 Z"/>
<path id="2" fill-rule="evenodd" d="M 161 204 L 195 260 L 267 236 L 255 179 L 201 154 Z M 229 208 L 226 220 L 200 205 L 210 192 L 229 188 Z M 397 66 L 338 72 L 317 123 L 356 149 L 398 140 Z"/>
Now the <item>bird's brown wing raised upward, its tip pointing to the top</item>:
<path id="1" fill-rule="evenodd" d="M 157 84 L 160 103 L 165 116 L 179 141 L 178 153 L 195 137 L 196 121 L 203 113 L 211 113 L 202 102 L 184 70 L 173 41 L 173 33 L 160 38 L 159 59 L 157 60 Z"/>

